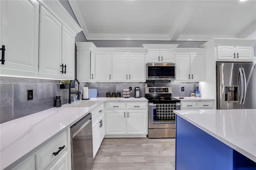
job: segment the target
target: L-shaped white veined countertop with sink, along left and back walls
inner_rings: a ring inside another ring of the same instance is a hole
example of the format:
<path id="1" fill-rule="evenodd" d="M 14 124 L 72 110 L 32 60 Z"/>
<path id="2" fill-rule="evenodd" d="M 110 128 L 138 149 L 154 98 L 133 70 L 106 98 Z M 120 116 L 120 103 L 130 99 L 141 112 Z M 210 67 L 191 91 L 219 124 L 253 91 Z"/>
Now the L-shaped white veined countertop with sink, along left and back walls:
<path id="1" fill-rule="evenodd" d="M 95 103 L 90 107 L 74 107 L 78 103 L 92 101 Z M 14 162 L 21 162 L 105 101 L 148 100 L 144 97 L 91 98 L 2 123 L 0 124 L 0 169 Z"/>

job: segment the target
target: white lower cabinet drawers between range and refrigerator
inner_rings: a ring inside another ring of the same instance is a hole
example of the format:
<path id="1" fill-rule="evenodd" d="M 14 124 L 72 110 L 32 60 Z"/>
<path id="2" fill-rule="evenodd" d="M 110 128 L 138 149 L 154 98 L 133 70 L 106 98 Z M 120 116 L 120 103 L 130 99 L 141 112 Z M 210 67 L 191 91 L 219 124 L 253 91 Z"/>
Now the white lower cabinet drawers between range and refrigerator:
<path id="1" fill-rule="evenodd" d="M 214 101 L 181 101 L 181 110 L 184 109 L 213 109 Z"/>

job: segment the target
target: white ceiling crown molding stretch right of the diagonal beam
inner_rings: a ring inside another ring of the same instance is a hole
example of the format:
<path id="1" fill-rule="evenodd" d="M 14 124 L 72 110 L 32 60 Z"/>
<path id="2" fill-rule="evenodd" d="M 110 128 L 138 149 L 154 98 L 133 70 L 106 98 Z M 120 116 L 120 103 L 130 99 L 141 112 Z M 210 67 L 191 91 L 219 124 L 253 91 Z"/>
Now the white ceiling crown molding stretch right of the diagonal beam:
<path id="1" fill-rule="evenodd" d="M 207 34 L 180 34 L 178 41 L 209 41 L 213 38 L 237 38 L 236 36 L 207 35 Z"/>

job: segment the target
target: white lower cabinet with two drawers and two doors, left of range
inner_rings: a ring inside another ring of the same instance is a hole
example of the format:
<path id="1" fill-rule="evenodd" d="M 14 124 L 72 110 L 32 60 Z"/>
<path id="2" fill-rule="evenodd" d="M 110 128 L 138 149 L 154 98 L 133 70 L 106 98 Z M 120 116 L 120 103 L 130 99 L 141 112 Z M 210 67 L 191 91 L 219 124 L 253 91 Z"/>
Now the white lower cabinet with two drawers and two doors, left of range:
<path id="1" fill-rule="evenodd" d="M 106 136 L 146 135 L 147 102 L 106 102 Z"/>

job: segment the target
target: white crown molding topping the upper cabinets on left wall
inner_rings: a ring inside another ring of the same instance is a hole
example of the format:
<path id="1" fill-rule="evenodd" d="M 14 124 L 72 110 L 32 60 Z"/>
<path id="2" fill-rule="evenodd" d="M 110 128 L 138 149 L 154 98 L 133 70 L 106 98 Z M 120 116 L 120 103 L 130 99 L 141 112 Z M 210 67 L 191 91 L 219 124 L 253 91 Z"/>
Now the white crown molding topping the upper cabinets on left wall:
<path id="1" fill-rule="evenodd" d="M 82 28 L 80 28 L 58 0 L 38 0 L 38 2 L 60 20 L 74 35 L 82 31 Z"/>

